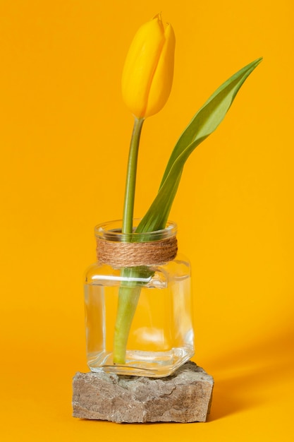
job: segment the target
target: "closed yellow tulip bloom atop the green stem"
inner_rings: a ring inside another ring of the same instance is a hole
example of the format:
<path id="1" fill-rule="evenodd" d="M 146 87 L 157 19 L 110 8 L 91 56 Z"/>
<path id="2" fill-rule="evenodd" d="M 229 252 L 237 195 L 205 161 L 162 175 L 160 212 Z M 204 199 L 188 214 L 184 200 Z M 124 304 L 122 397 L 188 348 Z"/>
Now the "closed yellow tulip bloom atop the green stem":
<path id="1" fill-rule="evenodd" d="M 173 83 L 176 39 L 158 14 L 135 34 L 125 59 L 122 76 L 123 100 L 132 114 L 144 119 L 160 111 Z"/>

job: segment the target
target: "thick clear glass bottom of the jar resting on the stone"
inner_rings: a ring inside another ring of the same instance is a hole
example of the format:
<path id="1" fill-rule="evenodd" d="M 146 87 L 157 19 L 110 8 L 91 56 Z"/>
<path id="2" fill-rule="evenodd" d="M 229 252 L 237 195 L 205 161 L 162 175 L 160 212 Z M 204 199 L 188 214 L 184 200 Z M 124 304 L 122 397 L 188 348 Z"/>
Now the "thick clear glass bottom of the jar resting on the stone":
<path id="1" fill-rule="evenodd" d="M 99 352 L 88 355 L 88 366 L 94 373 L 104 371 L 125 376 L 162 378 L 173 374 L 193 355 L 194 351 L 190 348 L 173 348 L 168 352 L 128 350 L 125 364 L 114 364 L 112 352 Z"/>

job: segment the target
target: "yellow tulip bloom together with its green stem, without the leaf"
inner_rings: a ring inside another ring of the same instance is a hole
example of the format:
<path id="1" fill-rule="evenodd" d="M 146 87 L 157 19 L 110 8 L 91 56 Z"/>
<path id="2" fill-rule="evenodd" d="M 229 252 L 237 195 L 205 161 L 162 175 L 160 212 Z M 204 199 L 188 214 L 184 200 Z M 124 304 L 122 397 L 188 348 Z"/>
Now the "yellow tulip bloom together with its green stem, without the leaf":
<path id="1" fill-rule="evenodd" d="M 173 83 L 173 59 L 175 35 L 171 25 L 164 25 L 158 14 L 137 31 L 125 59 L 122 76 L 123 100 L 135 117 L 123 206 L 122 232 L 133 232 L 133 211 L 142 124 L 146 117 L 156 114 L 164 107 Z M 121 277 L 130 277 L 133 270 L 122 269 Z M 136 271 L 133 276 L 137 276 Z M 124 364 L 125 348 L 133 320 L 140 288 L 125 285 L 120 288 L 118 312 L 114 333 L 114 363 Z"/>

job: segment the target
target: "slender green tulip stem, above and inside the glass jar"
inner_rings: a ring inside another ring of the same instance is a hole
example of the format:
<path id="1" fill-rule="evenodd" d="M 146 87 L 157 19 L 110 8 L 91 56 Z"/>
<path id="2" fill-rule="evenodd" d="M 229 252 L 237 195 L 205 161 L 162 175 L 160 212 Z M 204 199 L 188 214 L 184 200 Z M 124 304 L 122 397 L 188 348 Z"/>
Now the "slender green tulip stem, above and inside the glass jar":
<path id="1" fill-rule="evenodd" d="M 128 169 L 125 181 L 125 202 L 123 207 L 122 233 L 133 232 L 133 214 L 135 203 L 135 184 L 137 175 L 137 155 L 139 150 L 140 135 L 144 119 L 135 118 L 130 151 L 128 156 Z M 121 277 L 135 276 L 137 271 L 132 268 L 123 268 Z M 125 364 L 125 352 L 128 343 L 130 326 L 140 297 L 140 287 L 135 282 L 123 281 L 118 293 L 118 311 L 114 330 L 114 364 Z"/>

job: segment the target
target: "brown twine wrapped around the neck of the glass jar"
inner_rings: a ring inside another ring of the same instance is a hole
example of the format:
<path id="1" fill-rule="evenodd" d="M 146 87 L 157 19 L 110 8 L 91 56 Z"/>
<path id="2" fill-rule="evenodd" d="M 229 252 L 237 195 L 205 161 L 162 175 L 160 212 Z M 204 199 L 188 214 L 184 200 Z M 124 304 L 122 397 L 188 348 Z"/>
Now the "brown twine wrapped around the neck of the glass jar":
<path id="1" fill-rule="evenodd" d="M 119 242 L 97 238 L 97 259 L 112 267 L 163 264 L 176 258 L 175 236 L 147 242 Z"/>

